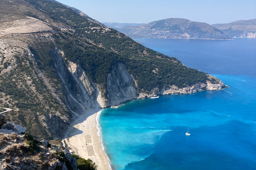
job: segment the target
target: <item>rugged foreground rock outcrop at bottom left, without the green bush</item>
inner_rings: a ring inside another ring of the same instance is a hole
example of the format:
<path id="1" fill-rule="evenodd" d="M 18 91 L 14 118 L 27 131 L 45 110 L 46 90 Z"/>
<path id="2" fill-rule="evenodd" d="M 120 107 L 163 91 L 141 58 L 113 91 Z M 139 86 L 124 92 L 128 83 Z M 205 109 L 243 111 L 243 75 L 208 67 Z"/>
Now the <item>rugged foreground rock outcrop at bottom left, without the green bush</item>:
<path id="1" fill-rule="evenodd" d="M 68 149 L 62 146 L 47 147 L 46 140 L 42 141 L 44 145 L 39 145 L 34 143 L 33 138 L 28 141 L 26 135 L 13 130 L 0 129 L 0 144 L 0 169 L 54 170 L 67 169 L 67 164 L 71 166 L 69 169 L 77 169 L 77 160 L 71 157 Z"/>

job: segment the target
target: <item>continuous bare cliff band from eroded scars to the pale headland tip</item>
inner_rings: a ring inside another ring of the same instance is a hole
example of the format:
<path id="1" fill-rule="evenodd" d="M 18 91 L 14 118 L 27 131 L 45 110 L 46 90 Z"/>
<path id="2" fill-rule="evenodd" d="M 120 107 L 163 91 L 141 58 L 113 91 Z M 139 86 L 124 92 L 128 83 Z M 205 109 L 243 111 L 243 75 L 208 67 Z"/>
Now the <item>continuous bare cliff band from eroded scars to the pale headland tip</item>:
<path id="1" fill-rule="evenodd" d="M 139 87 L 136 80 L 129 74 L 123 63 L 118 63 L 113 66 L 107 76 L 107 97 L 105 98 L 102 95 L 105 89 L 92 82 L 81 66 L 70 61 L 66 61 L 65 64 L 65 54 L 57 48 L 52 50 L 51 55 L 63 83 L 67 107 L 74 115 L 85 114 L 89 109 L 116 106 L 136 98 L 220 90 L 228 87 L 218 78 L 207 74 L 209 79 L 214 79 L 213 82 L 206 81 L 206 83 L 197 83 L 183 88 L 172 85 L 163 89 L 154 88 L 148 93 L 138 93 Z"/>

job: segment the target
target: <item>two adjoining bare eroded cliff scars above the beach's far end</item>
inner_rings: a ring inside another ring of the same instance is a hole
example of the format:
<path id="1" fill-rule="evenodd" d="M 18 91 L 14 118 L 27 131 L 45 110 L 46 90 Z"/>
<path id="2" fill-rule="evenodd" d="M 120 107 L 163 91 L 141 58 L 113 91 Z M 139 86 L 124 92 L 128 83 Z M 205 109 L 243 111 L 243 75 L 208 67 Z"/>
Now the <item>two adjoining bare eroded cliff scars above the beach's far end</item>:
<path id="1" fill-rule="evenodd" d="M 56 70 L 62 81 L 66 105 L 74 115 L 86 113 L 89 109 L 106 108 L 138 97 L 137 88 L 128 69 L 118 63 L 107 77 L 107 98 L 102 95 L 105 89 L 92 82 L 82 67 L 67 61 L 64 53 L 57 48 L 52 50 Z"/>

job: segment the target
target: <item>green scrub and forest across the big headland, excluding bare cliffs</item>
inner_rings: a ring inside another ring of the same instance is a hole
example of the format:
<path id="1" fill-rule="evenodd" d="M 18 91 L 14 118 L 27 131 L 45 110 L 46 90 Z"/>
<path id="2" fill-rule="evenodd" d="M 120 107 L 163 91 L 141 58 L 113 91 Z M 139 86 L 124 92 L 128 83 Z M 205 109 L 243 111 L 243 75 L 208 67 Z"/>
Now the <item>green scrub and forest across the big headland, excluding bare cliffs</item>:
<path id="1" fill-rule="evenodd" d="M 170 85 L 184 87 L 209 80 L 206 74 L 184 66 L 178 59 L 146 48 L 61 4 L 46 0 L 20 3 L 10 2 L 3 13 L 13 18 L 31 16 L 44 22 L 47 20 L 57 32 L 11 36 L 10 42 L 7 35 L 1 37 L 7 43 L 0 47 L 0 104 L 18 108 L 19 111 L 4 113 L 6 119 L 26 127 L 35 138 L 51 140 L 51 136 L 60 137 L 70 120 L 62 83 L 51 56 L 54 47 L 64 52 L 66 64 L 72 61 L 82 66 L 90 80 L 105 92 L 105 97 L 107 75 L 118 63 L 128 68 L 137 81 L 139 92 Z M 17 6 L 23 7 L 14 10 Z M 73 81 L 69 83 L 72 88 Z M 55 117 L 52 116 L 56 116 L 60 127 L 53 127 L 51 121 L 55 121 Z M 51 128 L 59 128 L 59 131 Z"/>

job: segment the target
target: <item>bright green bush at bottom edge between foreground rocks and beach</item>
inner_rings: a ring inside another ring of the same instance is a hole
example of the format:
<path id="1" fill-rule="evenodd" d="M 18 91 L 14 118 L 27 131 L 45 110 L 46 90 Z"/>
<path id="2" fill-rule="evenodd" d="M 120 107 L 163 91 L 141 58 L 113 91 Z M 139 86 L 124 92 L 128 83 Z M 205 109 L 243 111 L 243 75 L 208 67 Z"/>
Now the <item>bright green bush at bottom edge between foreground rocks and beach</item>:
<path id="1" fill-rule="evenodd" d="M 71 154 L 71 157 L 74 157 L 77 159 L 77 168 L 80 170 L 96 170 L 98 167 L 90 159 L 86 160 L 84 158 L 80 158 L 78 155 L 75 155 L 75 154 Z"/>

